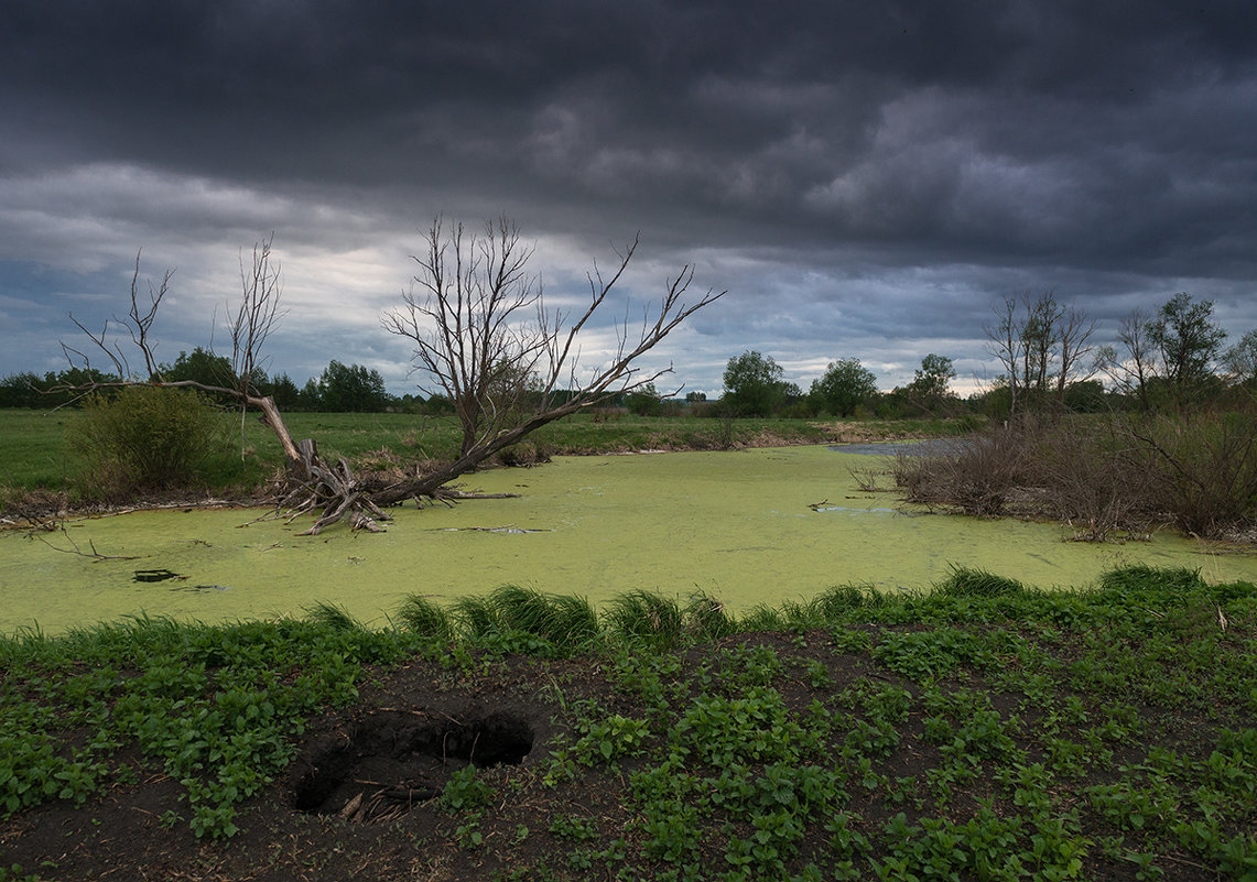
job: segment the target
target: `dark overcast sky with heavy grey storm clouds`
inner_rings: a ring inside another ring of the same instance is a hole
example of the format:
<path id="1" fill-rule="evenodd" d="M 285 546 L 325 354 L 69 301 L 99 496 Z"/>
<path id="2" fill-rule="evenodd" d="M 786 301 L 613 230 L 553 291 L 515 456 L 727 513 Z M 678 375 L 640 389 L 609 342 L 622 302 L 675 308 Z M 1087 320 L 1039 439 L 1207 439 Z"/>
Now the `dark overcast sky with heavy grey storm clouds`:
<path id="1" fill-rule="evenodd" d="M 507 214 L 556 303 L 640 231 L 728 289 L 651 356 L 719 393 L 926 353 L 991 378 L 993 303 L 1055 290 L 1110 338 L 1177 291 L 1257 328 L 1257 6 L 1012 3 L 0 3 L 0 376 L 68 318 L 172 294 L 158 357 L 224 342 L 241 249 L 283 265 L 273 373 L 412 389 L 380 327 L 432 217 Z M 611 318 L 623 318 L 618 304 Z M 597 344 L 585 353 L 598 358 Z M 662 388 L 662 386 L 661 386 Z"/>

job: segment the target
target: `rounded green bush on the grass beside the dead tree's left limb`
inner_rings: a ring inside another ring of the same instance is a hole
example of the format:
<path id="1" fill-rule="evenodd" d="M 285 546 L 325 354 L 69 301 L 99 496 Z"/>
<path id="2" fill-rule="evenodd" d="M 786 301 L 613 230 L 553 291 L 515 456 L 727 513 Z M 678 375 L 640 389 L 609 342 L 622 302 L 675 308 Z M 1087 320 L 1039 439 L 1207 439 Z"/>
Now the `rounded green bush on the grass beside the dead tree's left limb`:
<path id="1" fill-rule="evenodd" d="M 129 386 L 84 402 L 69 447 L 82 461 L 85 486 L 119 498 L 186 487 L 229 452 L 229 438 L 221 411 L 200 393 Z"/>

